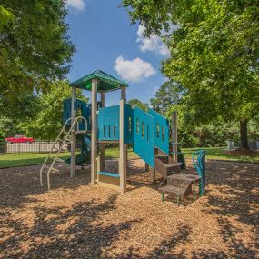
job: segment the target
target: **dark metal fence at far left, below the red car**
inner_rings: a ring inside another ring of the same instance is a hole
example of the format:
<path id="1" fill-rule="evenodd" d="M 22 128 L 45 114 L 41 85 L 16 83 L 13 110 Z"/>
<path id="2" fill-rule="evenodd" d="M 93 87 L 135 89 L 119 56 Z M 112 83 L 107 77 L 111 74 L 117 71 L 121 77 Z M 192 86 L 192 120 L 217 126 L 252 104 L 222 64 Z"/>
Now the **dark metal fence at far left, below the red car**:
<path id="1" fill-rule="evenodd" d="M 36 141 L 31 144 L 14 143 L 0 144 L 0 154 L 21 154 L 21 153 L 48 153 L 55 142 Z M 59 148 L 59 144 L 55 144 Z"/>

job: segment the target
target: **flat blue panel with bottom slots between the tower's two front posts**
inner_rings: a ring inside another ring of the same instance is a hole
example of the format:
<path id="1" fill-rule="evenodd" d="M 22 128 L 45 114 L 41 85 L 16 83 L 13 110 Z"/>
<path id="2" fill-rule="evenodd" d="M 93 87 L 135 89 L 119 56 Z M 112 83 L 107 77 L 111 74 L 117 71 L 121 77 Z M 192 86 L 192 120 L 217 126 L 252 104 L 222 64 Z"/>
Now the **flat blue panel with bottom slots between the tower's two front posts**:
<path id="1" fill-rule="evenodd" d="M 120 106 L 100 108 L 98 112 L 98 139 L 120 139 Z"/>

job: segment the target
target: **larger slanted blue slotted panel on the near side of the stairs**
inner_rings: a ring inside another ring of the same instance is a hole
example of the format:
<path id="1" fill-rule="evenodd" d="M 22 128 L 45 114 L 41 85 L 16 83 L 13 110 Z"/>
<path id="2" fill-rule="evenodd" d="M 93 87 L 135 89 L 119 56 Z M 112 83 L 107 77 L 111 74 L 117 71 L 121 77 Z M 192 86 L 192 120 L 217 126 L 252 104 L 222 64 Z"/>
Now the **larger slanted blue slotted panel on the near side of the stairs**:
<path id="1" fill-rule="evenodd" d="M 154 118 L 134 107 L 134 152 L 154 168 Z"/>

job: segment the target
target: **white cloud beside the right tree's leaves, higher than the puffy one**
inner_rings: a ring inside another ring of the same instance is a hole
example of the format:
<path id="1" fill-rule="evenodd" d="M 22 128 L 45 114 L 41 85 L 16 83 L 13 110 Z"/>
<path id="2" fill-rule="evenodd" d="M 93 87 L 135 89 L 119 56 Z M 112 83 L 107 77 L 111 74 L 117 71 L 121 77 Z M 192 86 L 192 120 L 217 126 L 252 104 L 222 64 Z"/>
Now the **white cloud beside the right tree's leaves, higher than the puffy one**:
<path id="1" fill-rule="evenodd" d="M 144 30 L 144 25 L 138 26 L 136 42 L 139 43 L 140 50 L 142 52 L 151 51 L 160 55 L 169 55 L 169 50 L 162 42 L 161 37 L 154 34 L 150 37 L 145 37 Z"/>

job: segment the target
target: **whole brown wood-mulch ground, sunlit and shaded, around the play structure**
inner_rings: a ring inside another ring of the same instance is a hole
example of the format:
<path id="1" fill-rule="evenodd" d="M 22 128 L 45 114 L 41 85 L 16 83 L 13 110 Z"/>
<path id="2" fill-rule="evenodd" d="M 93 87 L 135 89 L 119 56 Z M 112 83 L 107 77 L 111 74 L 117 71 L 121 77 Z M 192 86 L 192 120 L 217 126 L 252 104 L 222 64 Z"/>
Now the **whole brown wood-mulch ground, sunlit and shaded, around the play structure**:
<path id="1" fill-rule="evenodd" d="M 259 164 L 207 162 L 206 194 L 179 207 L 142 160 L 128 166 L 123 195 L 89 185 L 89 168 L 71 179 L 60 164 L 51 191 L 38 165 L 0 170 L 0 257 L 259 258 Z"/>

